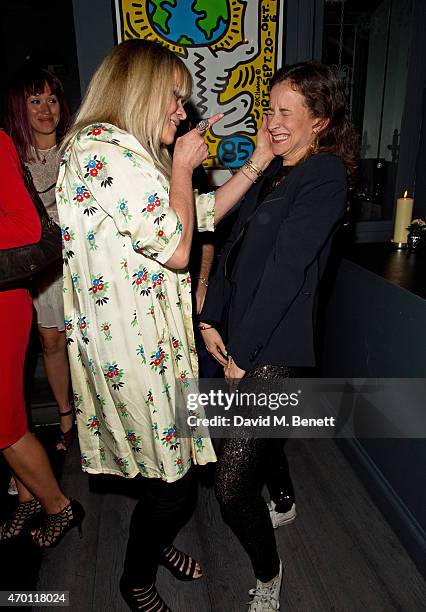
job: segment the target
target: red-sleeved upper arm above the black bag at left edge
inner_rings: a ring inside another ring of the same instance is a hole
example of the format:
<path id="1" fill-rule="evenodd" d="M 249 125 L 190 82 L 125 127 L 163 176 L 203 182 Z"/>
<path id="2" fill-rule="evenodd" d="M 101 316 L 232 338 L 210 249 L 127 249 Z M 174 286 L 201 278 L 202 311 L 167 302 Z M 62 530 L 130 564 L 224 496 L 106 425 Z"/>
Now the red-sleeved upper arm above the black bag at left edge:
<path id="1" fill-rule="evenodd" d="M 40 240 L 40 219 L 22 178 L 19 159 L 5 134 L 0 141 L 0 248 L 34 244 Z"/>

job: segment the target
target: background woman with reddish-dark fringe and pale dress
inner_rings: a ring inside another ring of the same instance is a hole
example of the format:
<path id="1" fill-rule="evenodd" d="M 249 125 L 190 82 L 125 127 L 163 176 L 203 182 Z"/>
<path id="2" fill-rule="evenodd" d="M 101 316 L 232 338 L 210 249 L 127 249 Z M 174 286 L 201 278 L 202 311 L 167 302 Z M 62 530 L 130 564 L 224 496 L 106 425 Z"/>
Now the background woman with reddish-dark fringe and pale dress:
<path id="1" fill-rule="evenodd" d="M 6 98 L 6 129 L 33 177 L 49 212 L 59 222 L 55 199 L 59 172 L 58 144 L 69 124 L 69 111 L 60 80 L 41 68 L 25 66 L 15 74 Z M 62 263 L 41 278 L 34 296 L 38 330 L 47 378 L 60 417 L 57 448 L 72 441 L 73 411 L 69 400 L 69 365 L 66 352 Z"/>

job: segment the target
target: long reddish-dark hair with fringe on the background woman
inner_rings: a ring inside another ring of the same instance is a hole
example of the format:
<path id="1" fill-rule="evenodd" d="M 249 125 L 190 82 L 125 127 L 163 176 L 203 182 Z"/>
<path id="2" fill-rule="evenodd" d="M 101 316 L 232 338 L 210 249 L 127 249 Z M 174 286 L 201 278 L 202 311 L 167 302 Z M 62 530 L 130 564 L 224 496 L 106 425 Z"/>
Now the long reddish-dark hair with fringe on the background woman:
<path id="1" fill-rule="evenodd" d="M 5 128 L 24 162 L 35 161 L 37 149 L 33 131 L 28 120 L 27 98 L 43 93 L 45 85 L 50 87 L 59 102 L 60 119 L 56 128 L 56 141 L 60 144 L 70 123 L 70 113 L 64 88 L 57 76 L 35 66 L 24 66 L 12 77 L 6 93 Z"/>

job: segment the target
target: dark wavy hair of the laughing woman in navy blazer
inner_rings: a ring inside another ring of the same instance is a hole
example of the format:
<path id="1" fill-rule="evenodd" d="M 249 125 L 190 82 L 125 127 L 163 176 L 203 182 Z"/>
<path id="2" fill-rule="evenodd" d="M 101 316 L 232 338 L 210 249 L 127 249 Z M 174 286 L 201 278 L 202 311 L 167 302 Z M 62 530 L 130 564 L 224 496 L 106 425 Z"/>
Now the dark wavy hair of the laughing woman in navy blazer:
<path id="1" fill-rule="evenodd" d="M 348 182 L 353 185 L 358 165 L 358 136 L 346 108 L 342 82 L 331 66 L 319 62 L 300 62 L 277 70 L 270 87 L 288 81 L 303 95 L 313 117 L 329 119 L 318 134 L 319 151 L 334 153 L 346 166 Z"/>

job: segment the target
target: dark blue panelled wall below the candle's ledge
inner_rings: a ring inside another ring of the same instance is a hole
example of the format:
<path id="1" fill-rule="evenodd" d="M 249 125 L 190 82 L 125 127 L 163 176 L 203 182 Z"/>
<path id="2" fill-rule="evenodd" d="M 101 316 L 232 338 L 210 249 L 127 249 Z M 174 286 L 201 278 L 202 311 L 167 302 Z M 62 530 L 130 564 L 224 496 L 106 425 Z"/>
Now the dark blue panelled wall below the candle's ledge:
<path id="1" fill-rule="evenodd" d="M 344 260 L 327 309 L 324 375 L 426 378 L 425 321 L 426 300 Z M 341 447 L 425 571 L 425 441 L 360 439 Z"/>

